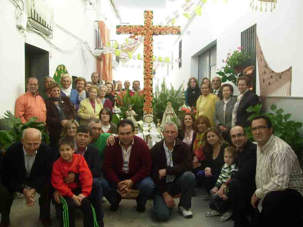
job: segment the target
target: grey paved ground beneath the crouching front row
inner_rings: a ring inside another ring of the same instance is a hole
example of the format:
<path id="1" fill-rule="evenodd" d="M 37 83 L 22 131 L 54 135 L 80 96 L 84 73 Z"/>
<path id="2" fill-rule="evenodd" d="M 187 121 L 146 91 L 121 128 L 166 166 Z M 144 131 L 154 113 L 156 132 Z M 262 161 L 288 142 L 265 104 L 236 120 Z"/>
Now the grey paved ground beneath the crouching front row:
<path id="1" fill-rule="evenodd" d="M 147 202 L 146 211 L 144 213 L 138 213 L 136 211 L 136 201 L 135 200 L 122 200 L 120 208 L 117 212 L 110 212 L 108 210 L 110 204 L 108 202 L 103 203 L 104 210 L 104 222 L 105 226 L 113 227 L 231 227 L 233 222 L 228 220 L 226 222 L 221 222 L 218 220 L 219 216 L 216 217 L 205 217 L 205 213 L 208 209 L 208 202 L 204 201 L 205 191 L 203 189 L 196 188 L 197 196 L 192 198 L 192 211 L 194 217 L 191 219 L 185 219 L 179 214 L 177 208 L 175 207 L 168 222 L 157 222 L 152 215 L 153 203 L 151 200 Z M 39 217 L 39 205 L 38 196 L 36 196 L 36 203 L 34 207 L 28 208 L 25 206 L 24 199 L 15 199 L 12 211 L 11 211 L 11 225 L 10 227 L 41 227 L 41 223 L 38 220 Z M 1 201 L 0 201 L 1 202 Z M 179 199 L 175 199 L 176 205 Z M 1 215 L 0 215 L 1 216 Z M 51 218 L 53 220 L 54 226 L 60 226 L 59 221 L 55 218 L 55 209 L 51 208 Z M 82 225 L 82 213 L 80 210 L 77 212 L 76 226 L 80 227 Z"/>

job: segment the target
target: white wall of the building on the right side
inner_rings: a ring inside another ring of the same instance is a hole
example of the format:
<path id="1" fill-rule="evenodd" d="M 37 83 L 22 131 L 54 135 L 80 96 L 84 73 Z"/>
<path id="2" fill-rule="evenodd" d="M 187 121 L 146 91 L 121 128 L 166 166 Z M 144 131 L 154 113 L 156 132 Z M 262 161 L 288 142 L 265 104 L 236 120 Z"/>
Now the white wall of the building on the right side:
<path id="1" fill-rule="evenodd" d="M 249 8 L 250 0 L 208 1 L 202 8 L 202 15 L 193 18 L 186 30 L 180 37 L 182 39 L 182 67 L 175 70 L 175 84 L 179 85 L 189 77 L 198 77 L 196 59 L 191 58 L 198 51 L 211 42 L 217 40 L 217 68 L 225 64 L 229 49 L 236 50 L 241 46 L 241 32 L 257 24 L 257 33 L 262 51 L 271 68 L 281 72 L 292 66 L 291 95 L 303 97 L 301 90 L 301 67 L 302 37 L 303 32 L 300 21 L 303 5 L 301 0 L 278 1 L 273 12 L 269 10 L 260 12 Z M 174 56 L 178 56 L 178 44 L 174 46 Z M 257 71 L 258 75 L 258 71 Z M 257 94 L 260 94 L 257 76 Z"/>

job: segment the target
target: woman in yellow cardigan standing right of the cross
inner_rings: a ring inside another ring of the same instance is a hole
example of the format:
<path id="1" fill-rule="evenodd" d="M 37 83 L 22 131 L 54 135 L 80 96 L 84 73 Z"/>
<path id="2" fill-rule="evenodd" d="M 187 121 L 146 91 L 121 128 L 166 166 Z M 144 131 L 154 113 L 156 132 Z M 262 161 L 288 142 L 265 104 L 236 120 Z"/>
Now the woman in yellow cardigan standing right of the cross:
<path id="1" fill-rule="evenodd" d="M 209 93 L 211 84 L 202 83 L 200 87 L 202 95 L 197 100 L 196 119 L 201 115 L 206 116 L 209 119 L 211 127 L 213 127 L 216 102 L 220 101 L 220 99 L 217 95 Z"/>

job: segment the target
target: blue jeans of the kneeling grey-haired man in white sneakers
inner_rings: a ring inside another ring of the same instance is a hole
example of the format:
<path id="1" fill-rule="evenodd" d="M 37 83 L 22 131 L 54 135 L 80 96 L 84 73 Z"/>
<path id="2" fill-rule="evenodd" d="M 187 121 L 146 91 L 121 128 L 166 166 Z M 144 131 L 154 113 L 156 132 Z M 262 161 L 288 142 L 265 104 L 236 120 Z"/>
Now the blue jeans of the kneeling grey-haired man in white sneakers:
<path id="1" fill-rule="evenodd" d="M 178 176 L 173 182 L 166 184 L 166 191 L 174 196 L 181 193 L 181 198 L 178 206 L 185 209 L 191 208 L 191 195 L 195 187 L 195 175 L 188 171 Z M 156 194 L 154 199 L 155 218 L 164 222 L 171 216 L 171 208 L 166 206 L 166 203 L 161 194 Z"/>

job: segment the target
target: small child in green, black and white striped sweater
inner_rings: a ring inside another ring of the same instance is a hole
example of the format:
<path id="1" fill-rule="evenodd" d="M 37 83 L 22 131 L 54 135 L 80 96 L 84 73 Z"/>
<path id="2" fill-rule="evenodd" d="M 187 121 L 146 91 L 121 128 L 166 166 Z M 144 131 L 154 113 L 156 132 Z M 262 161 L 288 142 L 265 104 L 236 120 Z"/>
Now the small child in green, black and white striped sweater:
<path id="1" fill-rule="evenodd" d="M 222 214 L 220 221 L 228 220 L 232 215 L 230 201 L 228 201 L 228 188 L 225 186 L 226 180 L 234 171 L 238 171 L 236 164 L 236 148 L 228 146 L 224 149 L 224 166 L 221 174 L 211 189 L 211 201 L 209 204 L 210 211 L 205 214 L 206 217 L 212 217 Z"/>

